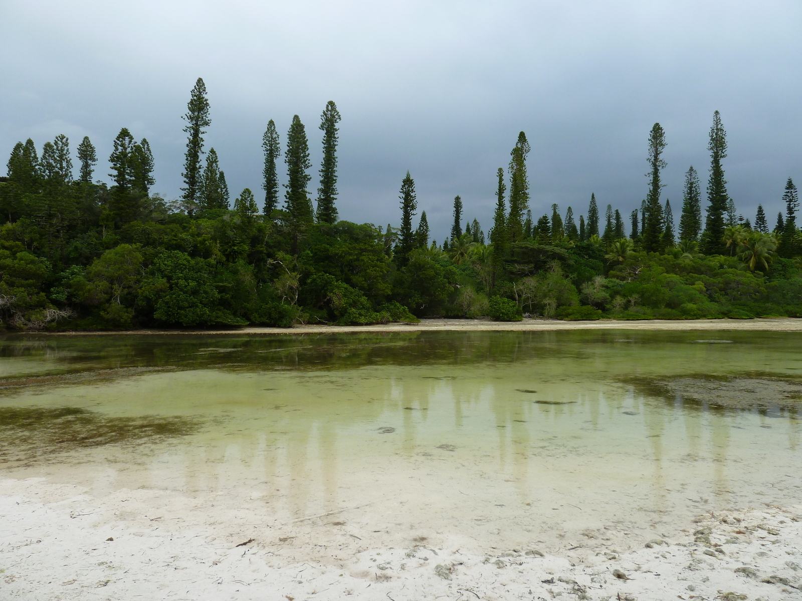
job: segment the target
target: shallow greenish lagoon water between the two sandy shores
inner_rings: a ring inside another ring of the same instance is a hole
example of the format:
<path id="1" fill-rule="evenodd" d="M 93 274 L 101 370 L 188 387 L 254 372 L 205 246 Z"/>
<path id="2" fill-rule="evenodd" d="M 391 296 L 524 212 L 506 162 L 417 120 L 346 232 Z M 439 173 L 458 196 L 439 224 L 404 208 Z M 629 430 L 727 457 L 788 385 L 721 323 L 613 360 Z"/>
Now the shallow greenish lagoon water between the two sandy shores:
<path id="1" fill-rule="evenodd" d="M 0 476 L 95 497 L 156 490 L 162 513 L 184 508 L 221 532 L 257 525 L 288 545 L 626 547 L 705 511 L 799 502 L 795 409 L 711 407 L 653 383 L 793 380 L 800 341 L 624 330 L 7 337 Z"/>

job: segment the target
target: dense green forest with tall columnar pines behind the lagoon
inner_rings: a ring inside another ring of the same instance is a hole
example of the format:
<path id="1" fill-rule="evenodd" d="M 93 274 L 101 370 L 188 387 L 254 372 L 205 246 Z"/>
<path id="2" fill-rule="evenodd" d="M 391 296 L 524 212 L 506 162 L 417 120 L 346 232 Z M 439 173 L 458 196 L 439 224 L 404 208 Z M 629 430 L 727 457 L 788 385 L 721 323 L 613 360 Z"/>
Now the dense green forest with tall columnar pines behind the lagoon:
<path id="1" fill-rule="evenodd" d="M 111 185 L 94 179 L 98 158 L 87 137 L 77 147 L 78 179 L 66 136 L 40 153 L 30 139 L 14 146 L 7 177 L 0 178 L 3 327 L 802 317 L 796 188 L 789 178 L 773 228 L 762 205 L 754 221 L 739 215 L 727 192 L 727 140 L 718 111 L 704 216 L 694 167 L 685 176 L 676 224 L 669 201 L 661 200 L 666 137 L 655 123 L 641 208 L 622 216 L 608 204 L 602 219 L 591 194 L 583 215 L 554 204 L 550 215 L 535 219 L 529 143 L 520 132 L 507 170 L 496 173 L 492 227 L 485 234 L 477 220 L 464 222 L 456 196 L 451 235 L 440 244 L 430 240 L 426 212 L 417 215 L 409 172 L 401 181 L 397 226 L 338 219 L 340 115 L 333 102 L 319 124 L 323 159 L 314 202 L 303 123 L 294 116 L 282 148 L 269 121 L 261 212 L 247 188 L 232 204 L 217 153 L 205 150 L 211 119 L 202 79 L 184 121 L 183 195 L 172 202 L 151 194 L 150 145 L 126 128 L 108 159 Z"/>

